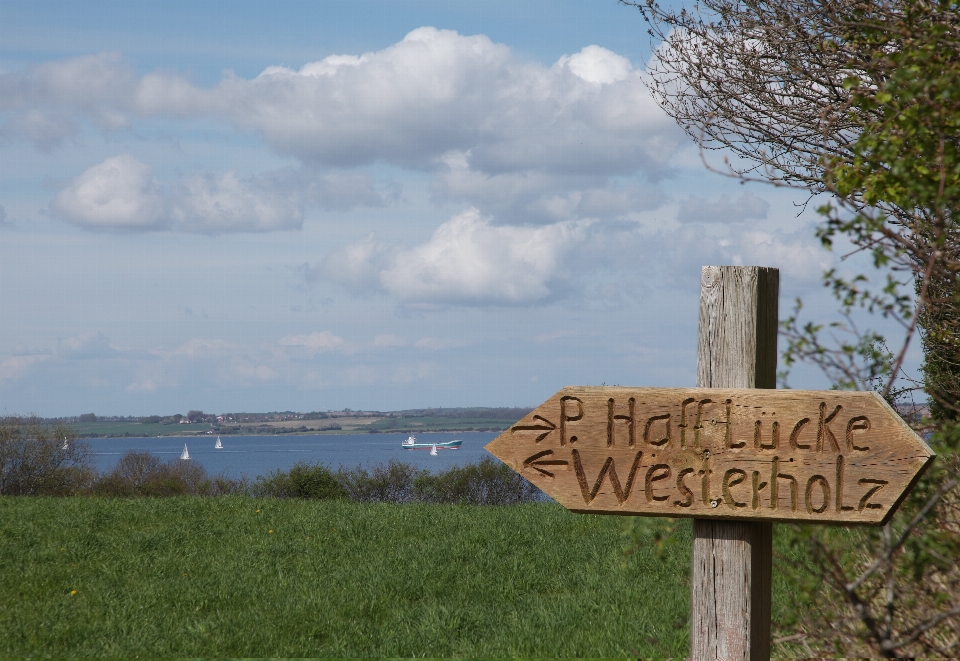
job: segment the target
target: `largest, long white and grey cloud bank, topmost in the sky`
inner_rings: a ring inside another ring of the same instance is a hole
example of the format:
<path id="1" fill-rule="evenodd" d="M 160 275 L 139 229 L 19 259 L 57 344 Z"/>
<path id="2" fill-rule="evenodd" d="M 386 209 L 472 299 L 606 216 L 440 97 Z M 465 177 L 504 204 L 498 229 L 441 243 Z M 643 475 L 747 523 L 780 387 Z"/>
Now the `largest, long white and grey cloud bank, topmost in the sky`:
<path id="1" fill-rule="evenodd" d="M 326 166 L 430 167 L 459 150 L 490 173 L 629 174 L 661 168 L 685 143 L 644 76 L 596 45 L 549 66 L 483 35 L 422 27 L 380 51 L 230 74 L 212 87 L 175 72 L 137 77 L 116 54 L 50 62 L 0 78 L 10 92 L 0 112 L 10 126 L 39 113 L 36 132 L 50 144 L 78 118 L 110 130 L 131 115 L 212 117 Z"/>

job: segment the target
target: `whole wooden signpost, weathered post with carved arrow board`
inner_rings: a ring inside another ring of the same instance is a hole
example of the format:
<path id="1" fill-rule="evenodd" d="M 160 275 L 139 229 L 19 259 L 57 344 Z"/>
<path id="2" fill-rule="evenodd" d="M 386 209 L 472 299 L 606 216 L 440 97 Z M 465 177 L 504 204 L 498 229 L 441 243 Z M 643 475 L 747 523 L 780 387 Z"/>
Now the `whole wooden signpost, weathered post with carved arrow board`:
<path id="1" fill-rule="evenodd" d="M 773 389 L 777 278 L 704 267 L 699 387 L 564 388 L 486 446 L 572 511 L 695 519 L 694 659 L 769 658 L 770 522 L 882 524 L 934 458 L 875 393 Z"/>

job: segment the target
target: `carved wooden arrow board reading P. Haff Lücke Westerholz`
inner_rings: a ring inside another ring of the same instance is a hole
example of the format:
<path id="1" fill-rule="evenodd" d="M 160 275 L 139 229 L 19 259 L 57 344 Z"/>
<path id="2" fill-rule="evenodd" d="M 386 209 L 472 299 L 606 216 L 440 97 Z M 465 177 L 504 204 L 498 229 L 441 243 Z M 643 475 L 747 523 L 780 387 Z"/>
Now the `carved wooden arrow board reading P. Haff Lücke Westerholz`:
<path id="1" fill-rule="evenodd" d="M 934 459 L 870 392 L 569 387 L 486 449 L 598 514 L 885 523 Z"/>

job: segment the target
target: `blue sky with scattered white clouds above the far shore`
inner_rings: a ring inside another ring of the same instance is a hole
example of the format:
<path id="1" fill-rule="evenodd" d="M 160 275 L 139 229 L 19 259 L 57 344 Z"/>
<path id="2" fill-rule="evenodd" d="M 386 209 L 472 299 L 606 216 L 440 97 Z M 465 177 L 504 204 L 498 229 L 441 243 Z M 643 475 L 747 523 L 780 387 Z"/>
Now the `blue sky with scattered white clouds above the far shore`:
<path id="1" fill-rule="evenodd" d="M 702 265 L 832 309 L 650 48 L 612 0 L 0 2 L 2 407 L 533 406 L 692 384 Z"/>

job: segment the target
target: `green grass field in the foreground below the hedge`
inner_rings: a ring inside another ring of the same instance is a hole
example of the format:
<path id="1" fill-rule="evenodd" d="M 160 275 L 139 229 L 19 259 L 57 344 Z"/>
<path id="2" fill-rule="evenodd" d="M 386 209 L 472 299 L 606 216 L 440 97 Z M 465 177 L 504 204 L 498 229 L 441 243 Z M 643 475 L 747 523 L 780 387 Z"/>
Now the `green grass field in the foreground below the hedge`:
<path id="1" fill-rule="evenodd" d="M 556 505 L 0 498 L 0 656 L 685 656 L 690 527 Z M 776 569 L 774 570 L 776 573 Z M 774 618 L 796 607 L 774 587 Z"/>

